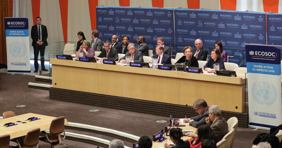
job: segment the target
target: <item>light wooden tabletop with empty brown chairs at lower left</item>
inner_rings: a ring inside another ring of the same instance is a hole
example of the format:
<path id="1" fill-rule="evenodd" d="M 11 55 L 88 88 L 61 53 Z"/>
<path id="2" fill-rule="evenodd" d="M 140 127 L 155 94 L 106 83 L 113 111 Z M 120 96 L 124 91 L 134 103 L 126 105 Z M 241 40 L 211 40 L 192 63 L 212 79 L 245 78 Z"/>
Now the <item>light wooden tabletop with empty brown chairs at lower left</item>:
<path id="1" fill-rule="evenodd" d="M 37 118 L 45 118 L 45 119 L 39 119 L 35 121 L 24 121 L 23 119 L 28 119 L 31 117 L 37 117 Z M 40 131 L 45 131 L 50 128 L 50 124 L 53 119 L 56 117 L 51 117 L 51 116 L 45 116 L 45 115 L 40 115 L 40 114 L 33 114 L 33 113 L 27 113 L 27 114 L 22 114 L 19 116 L 14 116 L 10 118 L 6 118 L 3 120 L 0 120 L 0 125 L 3 124 L 5 125 L 6 123 L 15 123 L 17 121 L 19 122 L 19 125 L 14 125 L 11 127 L 0 127 L 0 135 L 5 135 L 9 134 L 11 137 L 10 139 L 25 136 L 28 131 L 36 128 L 40 128 Z M 27 123 L 22 123 L 22 122 L 27 122 Z M 69 124 L 67 119 L 65 119 L 65 125 Z"/>

